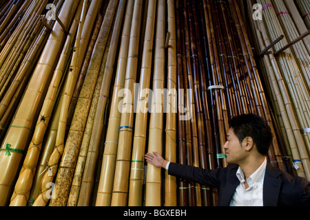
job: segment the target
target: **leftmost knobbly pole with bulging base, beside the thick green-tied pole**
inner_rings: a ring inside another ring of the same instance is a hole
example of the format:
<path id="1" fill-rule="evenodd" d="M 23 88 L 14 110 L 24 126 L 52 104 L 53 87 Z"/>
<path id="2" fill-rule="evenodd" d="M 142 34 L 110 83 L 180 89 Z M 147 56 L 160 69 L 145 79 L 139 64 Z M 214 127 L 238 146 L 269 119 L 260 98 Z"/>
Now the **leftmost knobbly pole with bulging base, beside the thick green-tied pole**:
<path id="1" fill-rule="evenodd" d="M 80 11 L 81 12 L 81 11 Z M 79 13 L 77 14 L 77 18 Z M 61 82 L 65 66 L 68 63 L 70 53 L 72 51 L 73 40 L 75 32 L 77 29 L 78 21 L 74 20 L 74 25 L 68 34 L 67 40 L 63 47 L 63 52 L 59 58 L 59 63 L 54 71 L 53 78 L 50 83 L 50 87 L 45 96 L 43 106 L 37 120 L 37 125 L 34 129 L 34 134 L 32 135 L 32 140 L 28 146 L 28 151 L 23 162 L 23 167 L 19 173 L 19 178 L 15 184 L 14 193 L 11 197 L 10 206 L 26 206 L 30 189 L 32 187 L 32 180 L 35 174 L 37 162 L 41 152 L 41 146 L 43 142 L 43 137 L 45 135 L 46 128 L 50 121 L 50 115 L 54 107 L 54 102 L 56 98 L 56 92 Z"/>

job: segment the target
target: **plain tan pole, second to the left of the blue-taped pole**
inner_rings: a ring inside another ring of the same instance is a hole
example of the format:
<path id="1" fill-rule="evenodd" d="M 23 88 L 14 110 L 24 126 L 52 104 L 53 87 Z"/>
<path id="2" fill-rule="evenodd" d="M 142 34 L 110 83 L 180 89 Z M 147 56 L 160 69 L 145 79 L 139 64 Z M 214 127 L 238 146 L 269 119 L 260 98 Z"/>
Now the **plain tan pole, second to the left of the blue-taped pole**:
<path id="1" fill-rule="evenodd" d="M 110 85 L 114 72 L 114 63 L 118 48 L 118 39 L 121 33 L 123 14 L 125 12 L 125 5 L 126 1 L 123 0 L 120 1 L 118 5 L 116 21 L 112 32 L 111 45 L 107 54 L 107 63 L 104 69 L 103 81 L 101 84 L 99 100 L 96 108 L 96 115 L 94 116 L 94 126 L 92 129 L 92 135 L 90 137 L 90 146 L 88 148 L 85 162 L 85 171 L 83 173 L 78 206 L 87 206 L 94 187 L 94 173 L 99 156 L 99 147 L 101 146 L 101 134 L 103 133 L 104 118 L 105 114 L 107 113 L 105 112 L 107 107 L 107 98 L 110 94 Z"/>

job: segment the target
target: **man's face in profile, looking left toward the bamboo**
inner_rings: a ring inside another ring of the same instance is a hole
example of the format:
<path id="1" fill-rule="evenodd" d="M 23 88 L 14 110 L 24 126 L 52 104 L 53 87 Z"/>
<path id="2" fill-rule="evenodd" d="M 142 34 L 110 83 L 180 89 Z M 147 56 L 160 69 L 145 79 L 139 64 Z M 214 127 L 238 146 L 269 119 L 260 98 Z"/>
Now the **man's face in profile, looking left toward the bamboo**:
<path id="1" fill-rule="evenodd" d="M 238 137 L 234 133 L 234 129 L 229 129 L 227 133 L 227 142 L 224 144 L 227 162 L 239 164 L 245 159 L 245 142 L 240 144 Z"/>

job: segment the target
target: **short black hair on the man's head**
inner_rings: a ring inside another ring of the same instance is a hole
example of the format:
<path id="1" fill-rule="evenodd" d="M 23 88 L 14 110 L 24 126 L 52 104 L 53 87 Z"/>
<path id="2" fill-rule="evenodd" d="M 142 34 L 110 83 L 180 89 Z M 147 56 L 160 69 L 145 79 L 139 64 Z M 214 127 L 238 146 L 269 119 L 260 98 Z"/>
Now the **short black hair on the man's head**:
<path id="1" fill-rule="evenodd" d="M 252 137 L 258 153 L 267 155 L 273 135 L 262 117 L 252 113 L 238 115 L 229 121 L 229 127 L 234 130 L 240 143 L 245 137 Z"/>

